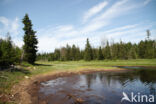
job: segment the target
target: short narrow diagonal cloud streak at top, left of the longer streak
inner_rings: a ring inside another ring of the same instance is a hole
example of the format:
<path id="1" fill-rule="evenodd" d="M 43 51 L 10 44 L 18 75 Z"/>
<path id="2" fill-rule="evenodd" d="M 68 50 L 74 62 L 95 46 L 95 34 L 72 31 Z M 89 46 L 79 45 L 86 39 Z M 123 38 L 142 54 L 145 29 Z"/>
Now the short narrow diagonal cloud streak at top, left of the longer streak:
<path id="1" fill-rule="evenodd" d="M 108 4 L 108 2 L 104 1 L 101 2 L 97 5 L 95 5 L 94 7 L 90 8 L 83 17 L 83 22 L 86 22 L 90 17 L 94 16 L 95 14 L 99 13 L 100 11 L 102 11 L 102 9 L 104 7 L 106 7 Z"/>

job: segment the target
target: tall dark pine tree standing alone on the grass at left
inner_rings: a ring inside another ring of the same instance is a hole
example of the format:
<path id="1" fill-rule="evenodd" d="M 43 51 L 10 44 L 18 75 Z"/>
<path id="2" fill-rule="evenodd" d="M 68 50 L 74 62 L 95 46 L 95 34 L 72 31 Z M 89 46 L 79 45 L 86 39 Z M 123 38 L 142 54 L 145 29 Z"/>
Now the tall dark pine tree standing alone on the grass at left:
<path id="1" fill-rule="evenodd" d="M 29 19 L 28 14 L 26 14 L 23 18 L 24 24 L 24 59 L 25 61 L 29 62 L 30 64 L 34 64 L 36 60 L 36 52 L 37 52 L 37 38 L 36 38 L 36 31 L 32 29 L 32 23 Z"/>

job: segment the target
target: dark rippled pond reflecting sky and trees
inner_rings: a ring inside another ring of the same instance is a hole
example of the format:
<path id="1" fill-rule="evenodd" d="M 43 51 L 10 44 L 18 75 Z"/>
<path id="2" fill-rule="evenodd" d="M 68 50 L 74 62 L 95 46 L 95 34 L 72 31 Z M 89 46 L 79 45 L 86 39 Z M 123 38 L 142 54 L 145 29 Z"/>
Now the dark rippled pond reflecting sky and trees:
<path id="1" fill-rule="evenodd" d="M 137 68 L 125 72 L 71 75 L 42 82 L 39 101 L 46 104 L 154 104 L 155 95 L 156 70 Z M 121 101 L 125 96 L 128 99 Z"/>

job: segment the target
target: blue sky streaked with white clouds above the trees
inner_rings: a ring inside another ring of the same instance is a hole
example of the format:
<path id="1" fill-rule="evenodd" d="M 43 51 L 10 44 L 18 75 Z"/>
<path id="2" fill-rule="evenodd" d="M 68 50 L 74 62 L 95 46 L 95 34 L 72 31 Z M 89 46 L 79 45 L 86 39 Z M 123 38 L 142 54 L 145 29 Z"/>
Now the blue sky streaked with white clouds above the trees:
<path id="1" fill-rule="evenodd" d="M 138 43 L 156 39 L 156 0 L 0 0 L 0 38 L 9 32 L 15 45 L 23 43 L 26 13 L 37 31 L 38 51 L 75 44 L 84 49 L 103 41 Z"/>

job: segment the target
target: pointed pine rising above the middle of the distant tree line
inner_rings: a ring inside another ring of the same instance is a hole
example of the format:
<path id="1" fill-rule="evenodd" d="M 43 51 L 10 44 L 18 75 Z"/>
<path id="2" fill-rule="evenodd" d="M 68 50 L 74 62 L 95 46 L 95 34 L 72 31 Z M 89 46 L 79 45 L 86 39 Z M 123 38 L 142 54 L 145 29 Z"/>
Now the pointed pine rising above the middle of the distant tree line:
<path id="1" fill-rule="evenodd" d="M 84 59 L 86 61 L 90 61 L 93 59 L 93 54 L 92 54 L 92 47 L 89 43 L 89 39 L 87 38 L 87 43 L 86 43 L 86 47 L 85 47 L 85 53 L 84 53 Z"/>

